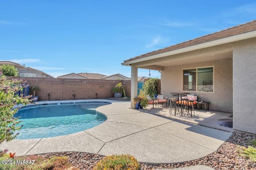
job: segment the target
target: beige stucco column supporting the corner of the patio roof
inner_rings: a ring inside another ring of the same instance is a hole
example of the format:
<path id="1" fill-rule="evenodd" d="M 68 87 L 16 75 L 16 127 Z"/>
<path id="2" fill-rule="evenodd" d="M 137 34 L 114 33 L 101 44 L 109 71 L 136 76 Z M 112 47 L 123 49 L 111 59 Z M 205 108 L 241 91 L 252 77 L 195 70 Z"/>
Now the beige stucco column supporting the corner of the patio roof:
<path id="1" fill-rule="evenodd" d="M 131 67 L 131 107 L 135 109 L 132 98 L 136 98 L 138 96 L 138 67 Z"/>

